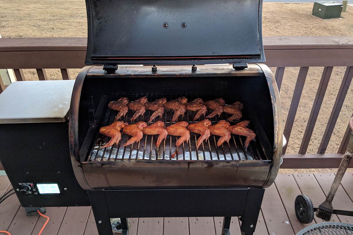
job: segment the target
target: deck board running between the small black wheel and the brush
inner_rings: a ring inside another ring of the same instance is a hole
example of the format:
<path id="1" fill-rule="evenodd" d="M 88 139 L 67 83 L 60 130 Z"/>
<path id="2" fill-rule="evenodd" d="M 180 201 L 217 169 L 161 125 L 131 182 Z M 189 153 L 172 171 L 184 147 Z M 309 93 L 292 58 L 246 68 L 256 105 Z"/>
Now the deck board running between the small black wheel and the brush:
<path id="1" fill-rule="evenodd" d="M 319 206 L 326 198 L 319 183 L 313 174 L 293 174 L 302 194 L 309 196 L 314 206 Z M 316 223 L 324 222 L 322 219 L 314 216 Z M 332 222 L 340 222 L 336 215 L 332 215 Z"/>

